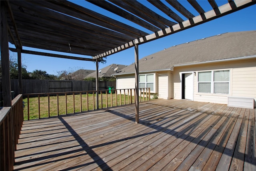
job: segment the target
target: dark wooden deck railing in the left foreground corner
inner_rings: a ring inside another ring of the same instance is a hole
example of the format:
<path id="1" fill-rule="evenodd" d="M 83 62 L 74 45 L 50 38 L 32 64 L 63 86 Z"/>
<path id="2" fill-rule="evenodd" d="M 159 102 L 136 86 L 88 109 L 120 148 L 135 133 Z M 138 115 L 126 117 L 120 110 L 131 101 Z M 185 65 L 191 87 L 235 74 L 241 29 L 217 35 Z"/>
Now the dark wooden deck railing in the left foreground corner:
<path id="1" fill-rule="evenodd" d="M 12 107 L 3 107 L 0 110 L 1 135 L 1 170 L 13 170 L 14 151 L 18 143 L 23 122 L 22 94 L 12 100 Z"/>

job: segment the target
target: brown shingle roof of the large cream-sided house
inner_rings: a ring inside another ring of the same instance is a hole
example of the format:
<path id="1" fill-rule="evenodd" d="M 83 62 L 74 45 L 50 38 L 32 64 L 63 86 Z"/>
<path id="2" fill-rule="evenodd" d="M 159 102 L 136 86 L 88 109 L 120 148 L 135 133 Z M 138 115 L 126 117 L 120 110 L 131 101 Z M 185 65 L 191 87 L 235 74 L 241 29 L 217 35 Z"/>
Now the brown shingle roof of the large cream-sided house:
<path id="1" fill-rule="evenodd" d="M 174 66 L 256 55 L 256 30 L 229 32 L 187 42 L 156 52 L 139 60 L 139 72 L 170 70 Z M 134 64 L 122 75 L 134 73 Z"/>

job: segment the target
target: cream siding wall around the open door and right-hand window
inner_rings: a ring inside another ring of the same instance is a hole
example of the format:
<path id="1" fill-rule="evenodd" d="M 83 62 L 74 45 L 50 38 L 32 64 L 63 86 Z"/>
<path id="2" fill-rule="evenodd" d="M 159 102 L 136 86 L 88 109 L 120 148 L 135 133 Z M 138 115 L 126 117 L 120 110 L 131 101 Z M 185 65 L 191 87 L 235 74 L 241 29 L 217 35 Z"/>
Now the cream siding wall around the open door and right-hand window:
<path id="1" fill-rule="evenodd" d="M 230 94 L 198 93 L 198 72 L 230 70 Z M 194 101 L 227 104 L 228 96 L 253 97 L 256 101 L 255 59 L 218 62 L 174 68 L 174 99 L 181 99 L 180 72 L 194 72 Z"/>

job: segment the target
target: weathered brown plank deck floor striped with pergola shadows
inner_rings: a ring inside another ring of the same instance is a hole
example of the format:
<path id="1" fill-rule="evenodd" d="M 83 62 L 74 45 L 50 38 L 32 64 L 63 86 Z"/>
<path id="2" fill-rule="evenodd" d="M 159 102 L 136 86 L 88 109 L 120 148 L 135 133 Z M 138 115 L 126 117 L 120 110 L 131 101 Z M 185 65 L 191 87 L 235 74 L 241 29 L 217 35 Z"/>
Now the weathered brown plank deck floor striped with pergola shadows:
<path id="1" fill-rule="evenodd" d="M 24 121 L 15 170 L 256 170 L 256 109 L 156 99 Z"/>

